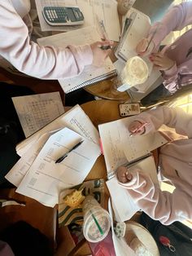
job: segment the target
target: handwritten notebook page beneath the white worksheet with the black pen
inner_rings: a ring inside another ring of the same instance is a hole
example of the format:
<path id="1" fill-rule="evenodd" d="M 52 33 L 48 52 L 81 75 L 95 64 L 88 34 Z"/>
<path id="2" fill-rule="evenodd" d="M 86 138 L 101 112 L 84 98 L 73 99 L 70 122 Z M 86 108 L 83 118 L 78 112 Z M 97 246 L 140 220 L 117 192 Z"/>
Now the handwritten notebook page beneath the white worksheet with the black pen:
<path id="1" fill-rule="evenodd" d="M 98 130 L 94 127 L 92 121 L 90 121 L 82 108 L 79 105 L 76 105 L 67 113 L 56 118 L 54 121 L 50 122 L 50 124 L 37 131 L 34 135 L 19 143 L 16 146 L 17 153 L 21 157 L 28 151 L 28 148 L 30 148 L 33 143 L 37 143 L 37 140 L 40 139 L 42 135 L 63 127 L 68 127 L 94 143 L 98 143 Z"/>

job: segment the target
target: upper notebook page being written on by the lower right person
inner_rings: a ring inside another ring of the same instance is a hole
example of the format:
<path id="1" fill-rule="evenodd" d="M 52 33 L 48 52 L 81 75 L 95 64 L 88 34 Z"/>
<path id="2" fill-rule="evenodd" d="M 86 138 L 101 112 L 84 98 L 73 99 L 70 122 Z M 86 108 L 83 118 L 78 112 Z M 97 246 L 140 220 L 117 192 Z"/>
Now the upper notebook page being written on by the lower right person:
<path id="1" fill-rule="evenodd" d="M 159 132 L 130 137 L 128 127 L 133 120 L 135 117 L 125 117 L 98 126 L 108 174 L 167 143 Z"/>

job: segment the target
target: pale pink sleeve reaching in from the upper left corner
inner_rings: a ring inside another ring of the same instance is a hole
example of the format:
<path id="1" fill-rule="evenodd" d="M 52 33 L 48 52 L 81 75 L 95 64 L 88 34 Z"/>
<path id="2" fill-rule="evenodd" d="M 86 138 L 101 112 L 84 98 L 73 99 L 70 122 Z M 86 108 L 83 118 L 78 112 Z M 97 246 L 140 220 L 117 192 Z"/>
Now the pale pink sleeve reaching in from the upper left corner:
<path id="1" fill-rule="evenodd" d="M 89 45 L 56 48 L 31 42 L 28 28 L 11 5 L 0 1 L 0 55 L 22 73 L 43 79 L 62 79 L 81 73 L 93 61 Z"/>

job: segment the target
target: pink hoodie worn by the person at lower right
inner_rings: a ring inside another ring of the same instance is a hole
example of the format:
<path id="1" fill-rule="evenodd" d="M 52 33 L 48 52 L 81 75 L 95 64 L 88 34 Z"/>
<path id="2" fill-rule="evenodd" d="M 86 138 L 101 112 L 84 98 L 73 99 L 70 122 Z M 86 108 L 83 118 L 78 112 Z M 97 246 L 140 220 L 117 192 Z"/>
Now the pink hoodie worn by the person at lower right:
<path id="1" fill-rule="evenodd" d="M 136 120 L 147 121 L 146 133 L 158 130 L 163 124 L 176 129 L 166 132 L 171 142 L 160 148 L 159 171 L 176 188 L 173 193 L 161 192 L 159 185 L 139 170 L 133 170 L 133 179 L 120 185 L 151 218 L 168 225 L 186 218 L 192 219 L 192 115 L 181 108 L 159 107 L 141 113 Z M 145 135 L 142 135 L 145 136 Z"/>

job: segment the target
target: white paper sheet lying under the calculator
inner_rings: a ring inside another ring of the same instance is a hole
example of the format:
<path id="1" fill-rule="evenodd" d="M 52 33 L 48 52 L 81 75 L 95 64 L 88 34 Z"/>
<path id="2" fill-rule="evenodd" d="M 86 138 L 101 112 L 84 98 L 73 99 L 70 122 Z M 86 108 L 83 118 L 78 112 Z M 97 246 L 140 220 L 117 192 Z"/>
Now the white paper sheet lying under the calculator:
<path id="1" fill-rule="evenodd" d="M 113 41 L 119 41 L 120 37 L 120 22 L 117 13 L 117 2 L 115 0 L 36 0 L 37 14 L 41 24 L 42 31 L 70 31 L 80 29 L 90 25 L 98 27 L 98 20 L 103 20 L 107 30 L 108 37 Z M 50 26 L 46 24 L 41 10 L 45 6 L 69 6 L 79 7 L 82 11 L 85 21 L 79 26 Z M 98 28 L 98 33 L 100 29 Z"/>

